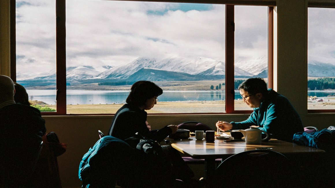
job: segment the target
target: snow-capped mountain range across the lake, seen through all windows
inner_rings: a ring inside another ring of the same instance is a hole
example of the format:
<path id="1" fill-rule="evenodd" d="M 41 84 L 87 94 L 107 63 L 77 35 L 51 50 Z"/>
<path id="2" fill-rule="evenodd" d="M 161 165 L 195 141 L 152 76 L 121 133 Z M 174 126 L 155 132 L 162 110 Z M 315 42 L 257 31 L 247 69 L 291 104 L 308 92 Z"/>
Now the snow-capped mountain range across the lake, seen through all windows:
<path id="1" fill-rule="evenodd" d="M 319 61 L 309 62 L 308 76 L 335 76 L 335 66 Z M 267 57 L 261 56 L 248 61 L 236 59 L 235 77 L 266 77 Z M 101 81 L 196 81 L 216 80 L 225 77 L 225 63 L 211 58 L 154 58 L 139 57 L 128 64 L 112 67 L 78 66 L 67 67 L 67 82 L 96 83 Z M 17 73 L 17 80 L 55 80 L 56 71 L 29 76 Z"/>

